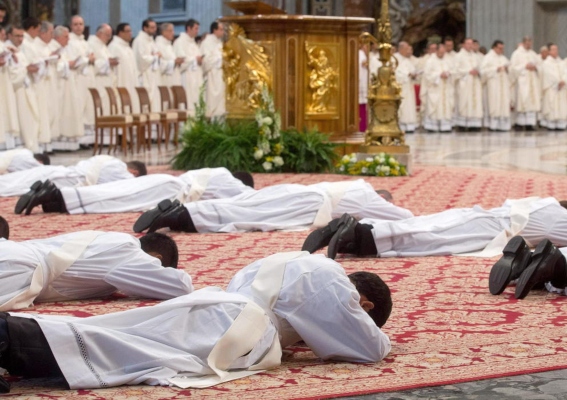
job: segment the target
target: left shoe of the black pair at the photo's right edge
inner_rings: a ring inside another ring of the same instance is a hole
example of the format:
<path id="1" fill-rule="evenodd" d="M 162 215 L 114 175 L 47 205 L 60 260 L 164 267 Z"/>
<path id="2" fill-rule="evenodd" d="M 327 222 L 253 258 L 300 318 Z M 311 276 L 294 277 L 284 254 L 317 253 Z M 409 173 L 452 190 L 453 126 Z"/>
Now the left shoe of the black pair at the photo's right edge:
<path id="1" fill-rule="evenodd" d="M 510 239 L 502 253 L 504 255 L 496 261 L 488 277 L 488 290 L 494 295 L 502 293 L 510 281 L 520 276 L 530 263 L 532 254 L 521 236 Z"/>

